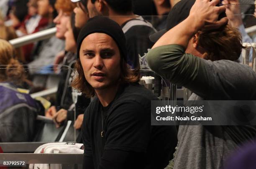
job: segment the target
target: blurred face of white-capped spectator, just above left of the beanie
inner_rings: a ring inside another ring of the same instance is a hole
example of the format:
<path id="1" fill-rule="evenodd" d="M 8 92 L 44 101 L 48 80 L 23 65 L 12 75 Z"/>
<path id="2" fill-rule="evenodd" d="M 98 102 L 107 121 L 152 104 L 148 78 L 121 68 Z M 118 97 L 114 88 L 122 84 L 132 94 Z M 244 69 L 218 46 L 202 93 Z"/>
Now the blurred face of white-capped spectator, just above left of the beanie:
<path id="1" fill-rule="evenodd" d="M 83 9 L 82 9 L 83 7 Z M 89 13 L 85 10 L 80 2 L 77 2 L 77 7 L 74 8 L 75 27 L 82 28 L 89 19 Z"/>

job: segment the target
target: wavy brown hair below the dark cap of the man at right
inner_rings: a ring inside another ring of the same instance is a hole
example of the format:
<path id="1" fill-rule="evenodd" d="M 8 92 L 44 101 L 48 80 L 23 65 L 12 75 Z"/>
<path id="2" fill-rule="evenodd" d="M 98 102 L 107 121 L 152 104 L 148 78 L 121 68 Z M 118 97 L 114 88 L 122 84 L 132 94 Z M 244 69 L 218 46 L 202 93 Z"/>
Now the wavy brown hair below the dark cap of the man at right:
<path id="1" fill-rule="evenodd" d="M 237 28 L 225 25 L 216 30 L 198 32 L 198 45 L 206 52 L 206 60 L 232 60 L 236 61 L 242 51 L 242 36 Z"/>

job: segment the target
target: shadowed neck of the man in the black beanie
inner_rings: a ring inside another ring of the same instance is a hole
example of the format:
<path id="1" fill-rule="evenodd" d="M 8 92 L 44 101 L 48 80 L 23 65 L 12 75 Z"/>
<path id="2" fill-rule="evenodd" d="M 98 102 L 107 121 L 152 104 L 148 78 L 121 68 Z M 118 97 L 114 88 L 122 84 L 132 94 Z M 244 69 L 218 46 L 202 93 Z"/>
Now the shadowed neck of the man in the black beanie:
<path id="1" fill-rule="evenodd" d="M 97 97 L 99 98 L 103 107 L 107 107 L 108 104 L 114 100 L 115 95 L 118 92 L 118 88 L 119 84 L 106 89 L 95 89 Z"/>

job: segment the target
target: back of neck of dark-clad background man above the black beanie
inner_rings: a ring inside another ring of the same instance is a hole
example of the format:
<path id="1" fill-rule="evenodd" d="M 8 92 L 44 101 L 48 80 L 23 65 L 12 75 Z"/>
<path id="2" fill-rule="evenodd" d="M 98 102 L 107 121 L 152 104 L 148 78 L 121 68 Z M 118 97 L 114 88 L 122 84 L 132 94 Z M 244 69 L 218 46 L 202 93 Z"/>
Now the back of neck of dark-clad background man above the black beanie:
<path id="1" fill-rule="evenodd" d="M 114 20 L 115 22 L 118 23 L 118 25 L 122 25 L 124 22 L 128 21 L 128 20 L 131 20 L 131 19 L 134 19 L 138 17 L 137 15 L 134 15 L 133 12 L 128 12 L 126 13 L 125 15 L 123 14 L 118 14 L 118 13 L 115 13 L 115 12 L 112 12 L 110 11 L 109 12 L 109 18 Z"/>

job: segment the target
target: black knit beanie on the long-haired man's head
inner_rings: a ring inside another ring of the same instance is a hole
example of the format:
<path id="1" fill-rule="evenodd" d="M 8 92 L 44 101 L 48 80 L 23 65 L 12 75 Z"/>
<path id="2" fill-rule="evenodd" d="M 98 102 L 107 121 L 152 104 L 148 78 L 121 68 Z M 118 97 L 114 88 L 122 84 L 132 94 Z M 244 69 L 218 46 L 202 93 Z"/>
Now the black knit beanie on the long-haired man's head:
<path id="1" fill-rule="evenodd" d="M 96 16 L 90 18 L 82 27 L 77 39 L 77 59 L 79 58 L 80 47 L 85 37 L 92 33 L 105 33 L 115 40 L 120 50 L 121 57 L 127 62 L 127 50 L 125 45 L 125 35 L 117 22 L 108 17 Z"/>

